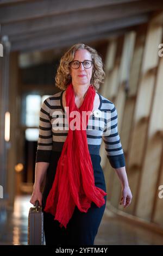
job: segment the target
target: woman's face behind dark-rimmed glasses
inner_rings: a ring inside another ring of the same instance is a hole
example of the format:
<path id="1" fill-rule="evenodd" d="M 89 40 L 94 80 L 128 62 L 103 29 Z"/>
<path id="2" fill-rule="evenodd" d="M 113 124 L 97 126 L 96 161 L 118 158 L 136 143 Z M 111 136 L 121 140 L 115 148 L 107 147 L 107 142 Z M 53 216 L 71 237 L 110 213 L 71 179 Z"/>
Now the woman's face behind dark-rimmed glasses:
<path id="1" fill-rule="evenodd" d="M 85 49 L 77 50 L 74 54 L 74 59 L 79 62 L 84 62 L 84 60 L 92 60 L 91 53 Z M 93 64 L 91 68 L 85 69 L 83 64 L 80 63 L 78 69 L 70 68 L 70 74 L 72 76 L 72 84 L 73 85 L 89 85 L 91 83 Z M 83 76 L 82 76 L 83 75 Z"/>

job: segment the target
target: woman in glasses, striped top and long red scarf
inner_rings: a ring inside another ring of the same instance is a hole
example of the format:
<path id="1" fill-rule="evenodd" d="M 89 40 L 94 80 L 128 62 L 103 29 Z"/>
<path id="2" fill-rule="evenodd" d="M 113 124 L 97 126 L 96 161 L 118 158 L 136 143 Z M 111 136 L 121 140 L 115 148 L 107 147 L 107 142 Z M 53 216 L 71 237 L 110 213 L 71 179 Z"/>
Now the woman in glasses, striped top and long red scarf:
<path id="1" fill-rule="evenodd" d="M 120 204 L 131 202 L 116 108 L 97 93 L 104 75 L 95 49 L 73 45 L 61 58 L 55 77 L 62 92 L 42 104 L 30 203 L 39 200 L 42 205 L 46 245 L 93 245 L 107 194 L 99 156 L 102 138 L 122 182 Z"/>

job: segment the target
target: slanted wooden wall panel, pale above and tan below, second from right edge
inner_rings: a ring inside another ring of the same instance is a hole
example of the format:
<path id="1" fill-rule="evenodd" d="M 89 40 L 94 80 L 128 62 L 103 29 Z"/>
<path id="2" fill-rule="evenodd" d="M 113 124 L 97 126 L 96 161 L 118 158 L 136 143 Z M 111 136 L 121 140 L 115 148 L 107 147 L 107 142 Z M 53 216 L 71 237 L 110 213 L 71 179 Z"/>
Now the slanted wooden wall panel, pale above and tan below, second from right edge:
<path id="1" fill-rule="evenodd" d="M 133 164 L 140 166 L 142 162 L 143 149 L 146 143 L 145 139 L 146 129 L 148 127 L 148 117 L 150 114 L 154 90 L 154 79 L 154 74 L 151 74 L 143 76 L 140 81 L 132 127 L 128 167 L 133 166 Z"/>

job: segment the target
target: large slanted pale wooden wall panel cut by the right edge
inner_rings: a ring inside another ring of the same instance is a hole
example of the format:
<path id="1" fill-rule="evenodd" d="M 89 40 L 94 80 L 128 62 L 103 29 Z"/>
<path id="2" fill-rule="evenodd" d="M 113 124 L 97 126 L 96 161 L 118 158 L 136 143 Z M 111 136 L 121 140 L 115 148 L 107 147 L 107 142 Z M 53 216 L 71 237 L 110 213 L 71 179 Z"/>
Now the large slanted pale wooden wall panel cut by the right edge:
<path id="1" fill-rule="evenodd" d="M 156 199 L 155 192 L 158 190 L 157 182 L 162 157 L 162 138 L 159 136 L 159 131 L 163 130 L 162 78 L 163 59 L 160 58 L 158 74 L 156 76 L 152 112 L 149 119 L 148 140 L 141 174 L 139 199 L 136 208 L 136 215 L 145 218 L 148 221 L 151 221 L 153 204 Z M 161 212 L 163 214 L 163 208 Z"/>

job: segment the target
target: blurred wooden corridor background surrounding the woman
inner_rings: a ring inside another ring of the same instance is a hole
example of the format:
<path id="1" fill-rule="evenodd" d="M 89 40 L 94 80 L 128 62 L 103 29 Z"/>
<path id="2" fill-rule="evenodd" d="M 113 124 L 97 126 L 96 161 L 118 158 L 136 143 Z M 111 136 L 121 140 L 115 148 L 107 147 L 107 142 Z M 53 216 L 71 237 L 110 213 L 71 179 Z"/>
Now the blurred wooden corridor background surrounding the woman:
<path id="1" fill-rule="evenodd" d="M 76 43 L 96 48 L 114 102 L 133 200 L 101 145 L 107 207 L 96 245 L 163 245 L 163 2 L 0 2 L 0 245 L 27 245 L 39 112 Z"/>

